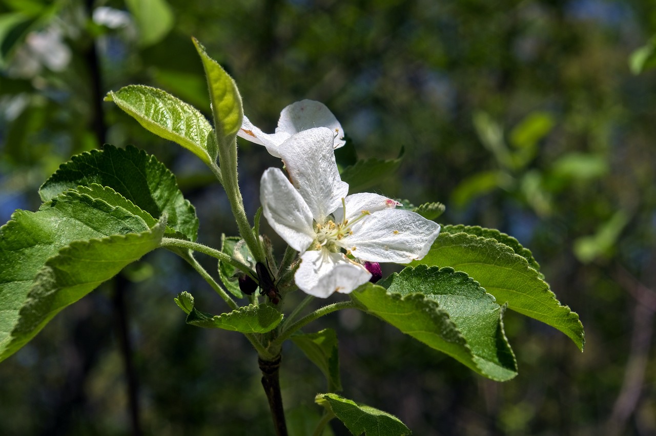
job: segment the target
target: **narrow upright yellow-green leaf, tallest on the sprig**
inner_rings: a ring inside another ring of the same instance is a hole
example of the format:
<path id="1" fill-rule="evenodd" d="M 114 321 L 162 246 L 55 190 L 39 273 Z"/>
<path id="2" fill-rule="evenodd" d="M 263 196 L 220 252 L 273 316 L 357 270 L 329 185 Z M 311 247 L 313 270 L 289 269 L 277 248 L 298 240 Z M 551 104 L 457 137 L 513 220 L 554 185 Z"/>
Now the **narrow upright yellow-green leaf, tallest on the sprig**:
<path id="1" fill-rule="evenodd" d="M 207 75 L 218 145 L 232 148 L 243 120 L 239 90 L 232 77 L 205 52 L 205 47 L 197 39 L 193 40 Z"/>

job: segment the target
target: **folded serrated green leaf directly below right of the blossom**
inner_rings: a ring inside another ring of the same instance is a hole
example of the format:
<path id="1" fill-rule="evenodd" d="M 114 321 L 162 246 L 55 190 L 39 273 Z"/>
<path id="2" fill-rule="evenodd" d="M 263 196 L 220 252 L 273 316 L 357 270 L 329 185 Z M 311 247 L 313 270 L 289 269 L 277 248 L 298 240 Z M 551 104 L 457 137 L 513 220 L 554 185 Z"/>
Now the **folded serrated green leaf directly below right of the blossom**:
<path id="1" fill-rule="evenodd" d="M 501 307 L 466 274 L 406 268 L 382 284 L 390 292 L 367 284 L 351 296 L 372 315 L 482 376 L 505 381 L 517 375 Z"/>

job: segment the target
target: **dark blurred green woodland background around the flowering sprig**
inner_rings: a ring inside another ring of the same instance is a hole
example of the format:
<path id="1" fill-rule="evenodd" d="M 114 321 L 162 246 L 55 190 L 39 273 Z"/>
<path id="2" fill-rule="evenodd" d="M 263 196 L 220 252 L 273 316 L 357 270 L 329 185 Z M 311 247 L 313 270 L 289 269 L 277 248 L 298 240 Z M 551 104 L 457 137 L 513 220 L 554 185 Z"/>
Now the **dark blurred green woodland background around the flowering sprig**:
<path id="1" fill-rule="evenodd" d="M 200 242 L 236 234 L 194 155 L 102 102 L 142 83 L 209 116 L 193 35 L 265 132 L 282 108 L 312 98 L 358 157 L 403 148 L 400 170 L 370 190 L 441 201 L 442 224 L 517 237 L 586 330 L 579 353 L 506 312 L 520 374 L 499 384 L 342 311 L 312 325 L 338 332 L 342 395 L 416 435 L 653 435 L 655 34 L 648 0 L 0 0 L 0 222 L 39 207 L 37 189 L 60 163 L 108 142 L 173 170 Z M 252 215 L 262 170 L 279 161 L 239 145 Z M 66 309 L 0 365 L 0 435 L 273 434 L 255 351 L 239 334 L 185 325 L 173 302 L 182 290 L 226 310 L 169 252 Z M 325 382 L 288 345 L 283 397 L 306 435 Z M 338 422 L 333 431 L 348 434 Z"/>

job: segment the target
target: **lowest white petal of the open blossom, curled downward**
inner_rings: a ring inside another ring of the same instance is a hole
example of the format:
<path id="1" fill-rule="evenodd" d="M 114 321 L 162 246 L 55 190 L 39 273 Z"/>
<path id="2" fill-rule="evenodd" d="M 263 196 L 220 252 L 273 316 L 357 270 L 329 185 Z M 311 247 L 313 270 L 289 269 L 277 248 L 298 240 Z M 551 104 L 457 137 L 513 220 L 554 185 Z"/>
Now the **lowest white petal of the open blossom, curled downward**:
<path id="1" fill-rule="evenodd" d="M 348 294 L 371 278 L 367 269 L 341 253 L 306 251 L 300 259 L 294 281 L 300 290 L 319 298 L 327 298 L 333 292 Z"/>

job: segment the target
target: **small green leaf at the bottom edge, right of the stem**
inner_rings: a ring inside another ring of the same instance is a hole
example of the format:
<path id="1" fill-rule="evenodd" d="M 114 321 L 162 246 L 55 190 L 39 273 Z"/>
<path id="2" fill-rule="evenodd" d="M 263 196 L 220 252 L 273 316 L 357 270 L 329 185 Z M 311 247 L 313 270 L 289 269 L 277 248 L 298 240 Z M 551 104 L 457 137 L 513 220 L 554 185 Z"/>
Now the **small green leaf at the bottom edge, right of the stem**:
<path id="1" fill-rule="evenodd" d="M 319 393 L 314 401 L 337 416 L 356 436 L 403 436 L 411 433 L 399 418 L 335 393 Z"/>

